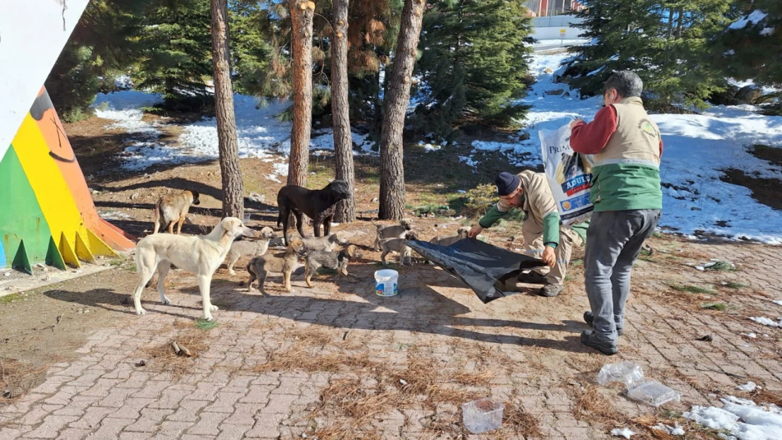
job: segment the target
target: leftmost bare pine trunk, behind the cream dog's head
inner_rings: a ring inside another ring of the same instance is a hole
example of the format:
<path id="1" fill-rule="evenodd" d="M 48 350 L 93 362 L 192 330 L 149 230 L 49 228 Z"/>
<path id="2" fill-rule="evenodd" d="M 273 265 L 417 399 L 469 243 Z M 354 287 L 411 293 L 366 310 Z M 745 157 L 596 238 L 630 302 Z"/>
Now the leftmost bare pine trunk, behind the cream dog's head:
<path id="1" fill-rule="evenodd" d="M 244 219 L 244 184 L 239 170 L 231 55 L 228 51 L 228 0 L 212 0 L 212 63 L 217 142 L 223 180 L 223 216 Z"/>

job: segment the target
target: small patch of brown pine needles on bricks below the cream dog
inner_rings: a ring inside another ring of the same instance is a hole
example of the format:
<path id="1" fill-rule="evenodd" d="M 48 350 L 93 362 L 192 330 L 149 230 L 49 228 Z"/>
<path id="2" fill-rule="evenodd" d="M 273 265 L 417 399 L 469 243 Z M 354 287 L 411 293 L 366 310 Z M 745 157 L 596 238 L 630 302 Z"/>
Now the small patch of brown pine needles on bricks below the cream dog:
<path id="1" fill-rule="evenodd" d="M 191 321 L 174 321 L 175 333 L 171 335 L 170 341 L 163 345 L 157 345 L 143 352 L 144 356 L 149 358 L 146 369 L 160 373 L 170 373 L 172 377 L 178 378 L 187 374 L 192 368 L 195 360 L 201 353 L 209 348 L 206 343 L 206 333 L 195 327 Z M 171 342 L 176 341 L 180 345 L 185 345 L 192 353 L 192 357 L 178 356 L 171 347 Z"/>

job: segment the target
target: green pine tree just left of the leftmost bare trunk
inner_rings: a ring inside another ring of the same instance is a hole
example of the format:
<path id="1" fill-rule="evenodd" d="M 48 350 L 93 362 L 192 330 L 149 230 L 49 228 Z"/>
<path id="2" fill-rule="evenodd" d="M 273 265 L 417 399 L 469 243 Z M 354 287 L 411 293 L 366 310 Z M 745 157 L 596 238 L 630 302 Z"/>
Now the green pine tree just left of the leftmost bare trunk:
<path id="1" fill-rule="evenodd" d="M 136 87 L 162 94 L 167 109 L 202 109 L 211 101 L 206 92 L 206 79 L 212 76 L 210 1 L 154 2 L 144 25 Z"/>

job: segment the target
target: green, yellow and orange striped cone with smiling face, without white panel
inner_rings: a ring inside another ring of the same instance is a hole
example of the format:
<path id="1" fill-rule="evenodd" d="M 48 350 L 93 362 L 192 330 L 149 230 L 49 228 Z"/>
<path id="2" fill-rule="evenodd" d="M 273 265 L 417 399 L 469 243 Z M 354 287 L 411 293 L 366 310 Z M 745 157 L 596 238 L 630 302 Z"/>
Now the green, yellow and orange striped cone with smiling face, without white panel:
<path id="1" fill-rule="evenodd" d="M 0 267 L 64 269 L 131 249 L 102 220 L 45 88 L 0 160 Z"/>

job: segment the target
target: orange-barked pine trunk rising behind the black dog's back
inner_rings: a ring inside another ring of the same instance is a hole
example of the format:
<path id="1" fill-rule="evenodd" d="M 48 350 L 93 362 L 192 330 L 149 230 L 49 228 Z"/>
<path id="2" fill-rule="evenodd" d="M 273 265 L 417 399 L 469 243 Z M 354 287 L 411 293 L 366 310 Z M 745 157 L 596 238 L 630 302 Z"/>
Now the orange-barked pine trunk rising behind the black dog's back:
<path id="1" fill-rule="evenodd" d="M 289 185 L 307 185 L 312 127 L 312 17 L 315 4 L 290 0 L 293 30 L 293 127 L 288 166 Z"/>

